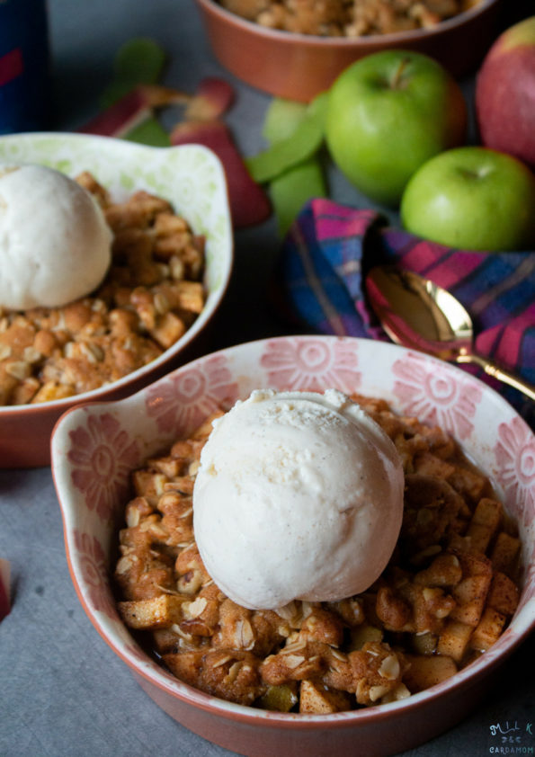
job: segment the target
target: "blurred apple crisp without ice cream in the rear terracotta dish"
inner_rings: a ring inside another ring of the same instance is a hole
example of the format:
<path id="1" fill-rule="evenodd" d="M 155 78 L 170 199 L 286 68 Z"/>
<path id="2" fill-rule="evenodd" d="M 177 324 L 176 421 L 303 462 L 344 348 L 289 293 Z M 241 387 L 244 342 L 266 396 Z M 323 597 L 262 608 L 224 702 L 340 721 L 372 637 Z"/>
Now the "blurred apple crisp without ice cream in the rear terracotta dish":
<path id="1" fill-rule="evenodd" d="M 428 29 L 479 0 L 219 0 L 269 29 L 319 37 L 362 37 Z"/>

